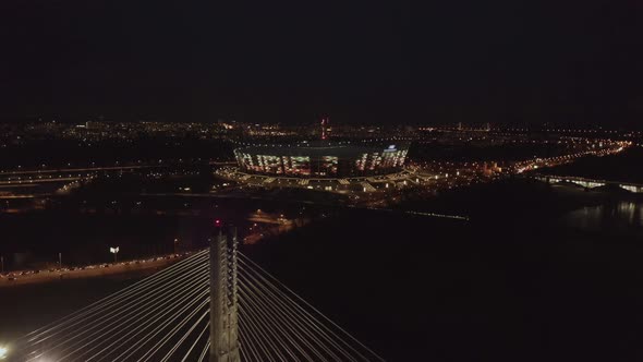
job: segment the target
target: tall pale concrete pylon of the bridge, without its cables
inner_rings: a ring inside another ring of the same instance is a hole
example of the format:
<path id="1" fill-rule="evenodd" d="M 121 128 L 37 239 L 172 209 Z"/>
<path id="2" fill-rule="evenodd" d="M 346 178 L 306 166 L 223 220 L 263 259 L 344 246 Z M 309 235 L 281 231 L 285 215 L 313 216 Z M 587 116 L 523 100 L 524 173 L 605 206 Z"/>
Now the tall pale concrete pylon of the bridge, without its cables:
<path id="1" fill-rule="evenodd" d="M 230 238 L 229 238 L 230 237 Z M 236 228 L 229 236 L 219 228 L 210 242 L 209 362 L 240 362 L 236 293 Z"/>

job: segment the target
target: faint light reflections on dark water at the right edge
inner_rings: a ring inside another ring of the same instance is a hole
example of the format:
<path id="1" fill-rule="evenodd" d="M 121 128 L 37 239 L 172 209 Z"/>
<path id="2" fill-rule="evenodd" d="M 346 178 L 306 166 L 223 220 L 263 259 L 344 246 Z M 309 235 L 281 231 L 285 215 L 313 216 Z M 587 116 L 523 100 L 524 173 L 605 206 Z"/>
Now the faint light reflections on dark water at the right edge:
<path id="1" fill-rule="evenodd" d="M 618 202 L 587 206 L 565 215 L 562 222 L 584 231 L 606 231 L 619 236 L 643 237 L 643 203 Z"/>

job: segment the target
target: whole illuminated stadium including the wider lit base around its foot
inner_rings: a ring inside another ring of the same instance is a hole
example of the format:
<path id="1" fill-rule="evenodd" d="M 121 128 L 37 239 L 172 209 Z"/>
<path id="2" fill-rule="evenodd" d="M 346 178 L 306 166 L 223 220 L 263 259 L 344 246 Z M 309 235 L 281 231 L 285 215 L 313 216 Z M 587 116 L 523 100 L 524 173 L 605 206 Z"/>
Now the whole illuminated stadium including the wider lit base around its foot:
<path id="1" fill-rule="evenodd" d="M 397 189 L 418 180 L 403 169 L 408 145 L 303 142 L 244 145 L 234 149 L 238 167 L 217 174 L 252 186 L 304 188 L 336 192 Z"/>

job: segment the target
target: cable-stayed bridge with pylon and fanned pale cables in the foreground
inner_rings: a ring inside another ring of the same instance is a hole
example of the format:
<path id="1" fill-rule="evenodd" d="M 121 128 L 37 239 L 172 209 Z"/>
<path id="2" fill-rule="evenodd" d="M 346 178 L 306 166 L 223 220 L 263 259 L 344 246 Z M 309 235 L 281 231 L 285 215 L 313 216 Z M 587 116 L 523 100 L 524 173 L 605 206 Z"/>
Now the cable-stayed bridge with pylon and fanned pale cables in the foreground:
<path id="1" fill-rule="evenodd" d="M 16 341 L 10 361 L 383 361 L 219 233 Z"/>

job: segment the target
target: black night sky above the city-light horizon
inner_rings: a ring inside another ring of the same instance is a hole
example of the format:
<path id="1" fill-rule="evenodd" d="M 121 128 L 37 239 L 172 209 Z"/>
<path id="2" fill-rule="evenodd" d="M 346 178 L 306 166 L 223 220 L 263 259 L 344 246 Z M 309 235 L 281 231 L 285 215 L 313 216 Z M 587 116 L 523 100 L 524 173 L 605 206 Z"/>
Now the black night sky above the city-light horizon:
<path id="1" fill-rule="evenodd" d="M 642 15 L 636 0 L 4 0 L 0 120 L 636 125 Z"/>

